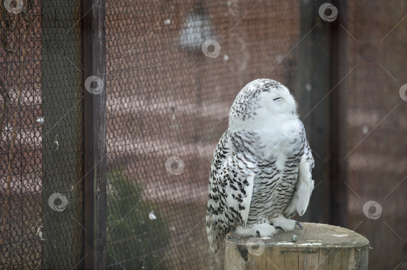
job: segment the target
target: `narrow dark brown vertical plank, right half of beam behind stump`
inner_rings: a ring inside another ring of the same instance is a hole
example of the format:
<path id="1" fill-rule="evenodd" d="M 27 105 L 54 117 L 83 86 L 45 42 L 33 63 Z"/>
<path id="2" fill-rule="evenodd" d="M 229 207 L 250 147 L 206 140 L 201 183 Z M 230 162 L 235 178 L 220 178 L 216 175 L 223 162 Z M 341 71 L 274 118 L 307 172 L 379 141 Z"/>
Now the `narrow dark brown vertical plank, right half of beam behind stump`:
<path id="1" fill-rule="evenodd" d="M 335 0 L 338 17 L 332 22 L 332 79 L 331 88 L 339 83 L 331 95 L 331 216 L 330 224 L 347 227 L 347 1 Z M 342 25 L 342 27 L 341 27 Z M 334 170 L 334 171 L 332 171 Z"/>

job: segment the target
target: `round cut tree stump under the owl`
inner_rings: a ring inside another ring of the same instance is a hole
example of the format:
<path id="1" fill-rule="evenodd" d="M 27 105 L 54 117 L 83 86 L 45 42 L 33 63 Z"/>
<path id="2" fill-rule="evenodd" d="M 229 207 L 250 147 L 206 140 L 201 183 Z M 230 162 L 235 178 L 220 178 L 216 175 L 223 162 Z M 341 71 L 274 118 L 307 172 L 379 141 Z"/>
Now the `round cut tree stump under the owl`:
<path id="1" fill-rule="evenodd" d="M 332 225 L 301 225 L 272 237 L 228 233 L 225 270 L 367 270 L 365 237 Z"/>

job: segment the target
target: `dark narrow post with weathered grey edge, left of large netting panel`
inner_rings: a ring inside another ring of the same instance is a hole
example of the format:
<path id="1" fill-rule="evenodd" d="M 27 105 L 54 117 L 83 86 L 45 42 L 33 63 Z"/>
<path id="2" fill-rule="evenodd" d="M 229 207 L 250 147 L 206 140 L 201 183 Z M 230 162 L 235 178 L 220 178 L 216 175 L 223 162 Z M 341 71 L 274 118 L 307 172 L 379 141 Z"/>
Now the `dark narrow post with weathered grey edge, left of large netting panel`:
<path id="1" fill-rule="evenodd" d="M 105 1 L 83 1 L 85 269 L 106 268 Z"/>

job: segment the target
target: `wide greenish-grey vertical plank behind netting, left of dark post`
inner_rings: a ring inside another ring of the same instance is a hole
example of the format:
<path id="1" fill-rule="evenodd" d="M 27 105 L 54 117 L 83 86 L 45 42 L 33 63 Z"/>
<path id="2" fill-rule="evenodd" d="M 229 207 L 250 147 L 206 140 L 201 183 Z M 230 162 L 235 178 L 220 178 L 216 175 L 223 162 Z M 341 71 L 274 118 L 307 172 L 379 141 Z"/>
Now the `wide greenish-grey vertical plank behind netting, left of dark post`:
<path id="1" fill-rule="evenodd" d="M 83 267 L 81 2 L 42 2 L 43 269 Z"/>

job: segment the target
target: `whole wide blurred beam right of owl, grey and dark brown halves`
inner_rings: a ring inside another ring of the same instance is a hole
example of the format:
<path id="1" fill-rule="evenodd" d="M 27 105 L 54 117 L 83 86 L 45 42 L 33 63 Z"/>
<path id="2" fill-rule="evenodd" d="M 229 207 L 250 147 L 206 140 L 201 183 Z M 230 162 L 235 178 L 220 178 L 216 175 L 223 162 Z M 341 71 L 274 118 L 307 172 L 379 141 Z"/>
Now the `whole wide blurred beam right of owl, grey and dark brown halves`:
<path id="1" fill-rule="evenodd" d="M 323 3 L 300 2 L 299 113 L 314 151 L 316 188 L 302 220 L 346 227 L 346 0 L 335 0 L 335 20 L 320 14 Z M 325 4 L 324 4 L 325 5 Z M 324 13 L 323 13 L 324 14 Z M 327 11 L 330 14 L 330 11 Z M 341 24 L 341 25 L 340 25 Z M 310 30 L 314 27 L 311 32 Z"/>

